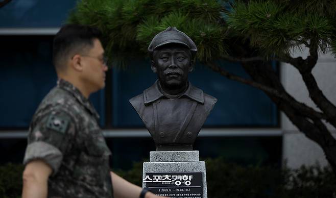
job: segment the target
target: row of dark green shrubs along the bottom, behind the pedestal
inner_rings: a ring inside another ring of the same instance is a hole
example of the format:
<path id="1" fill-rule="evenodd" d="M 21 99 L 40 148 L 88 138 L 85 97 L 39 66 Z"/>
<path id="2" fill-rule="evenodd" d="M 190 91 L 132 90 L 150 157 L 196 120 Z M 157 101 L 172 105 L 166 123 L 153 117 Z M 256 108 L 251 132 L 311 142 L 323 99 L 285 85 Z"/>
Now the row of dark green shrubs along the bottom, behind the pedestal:
<path id="1" fill-rule="evenodd" d="M 148 161 L 148 160 L 145 160 Z M 320 165 L 299 169 L 241 166 L 222 158 L 205 159 L 208 197 L 211 198 L 332 198 L 336 197 L 336 177 L 331 168 Z M 142 185 L 142 163 L 116 174 Z M 0 166 L 0 197 L 20 197 L 23 165 Z"/>

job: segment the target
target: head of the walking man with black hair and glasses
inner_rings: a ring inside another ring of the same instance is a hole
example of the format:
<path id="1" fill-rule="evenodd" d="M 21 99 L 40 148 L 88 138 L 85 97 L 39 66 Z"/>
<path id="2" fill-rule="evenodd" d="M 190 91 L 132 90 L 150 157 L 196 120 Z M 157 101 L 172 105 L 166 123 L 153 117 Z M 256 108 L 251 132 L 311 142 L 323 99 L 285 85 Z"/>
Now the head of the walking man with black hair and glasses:
<path id="1" fill-rule="evenodd" d="M 58 77 L 73 83 L 85 96 L 105 86 L 107 66 L 101 35 L 95 28 L 68 24 L 54 38 Z"/>

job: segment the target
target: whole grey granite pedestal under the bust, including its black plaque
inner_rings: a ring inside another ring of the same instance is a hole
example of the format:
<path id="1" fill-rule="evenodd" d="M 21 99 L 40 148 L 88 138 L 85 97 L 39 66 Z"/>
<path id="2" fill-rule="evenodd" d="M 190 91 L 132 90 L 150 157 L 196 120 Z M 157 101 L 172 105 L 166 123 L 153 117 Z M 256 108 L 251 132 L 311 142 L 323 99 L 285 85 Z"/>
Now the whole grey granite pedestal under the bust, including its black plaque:
<path id="1" fill-rule="evenodd" d="M 199 151 L 150 152 L 143 163 L 142 187 L 158 195 L 207 198 L 205 162 Z"/>

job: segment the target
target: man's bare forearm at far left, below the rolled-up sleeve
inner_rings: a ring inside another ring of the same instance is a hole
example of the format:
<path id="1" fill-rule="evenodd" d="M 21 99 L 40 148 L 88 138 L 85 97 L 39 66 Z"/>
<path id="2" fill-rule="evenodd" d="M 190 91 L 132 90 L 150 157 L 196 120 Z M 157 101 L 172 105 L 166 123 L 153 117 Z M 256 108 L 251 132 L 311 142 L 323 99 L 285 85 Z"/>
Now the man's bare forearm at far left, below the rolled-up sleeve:
<path id="1" fill-rule="evenodd" d="M 42 160 L 29 162 L 22 176 L 22 198 L 45 198 L 48 193 L 48 178 L 52 171 Z"/>

